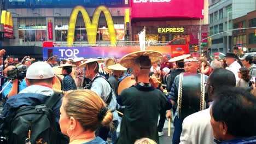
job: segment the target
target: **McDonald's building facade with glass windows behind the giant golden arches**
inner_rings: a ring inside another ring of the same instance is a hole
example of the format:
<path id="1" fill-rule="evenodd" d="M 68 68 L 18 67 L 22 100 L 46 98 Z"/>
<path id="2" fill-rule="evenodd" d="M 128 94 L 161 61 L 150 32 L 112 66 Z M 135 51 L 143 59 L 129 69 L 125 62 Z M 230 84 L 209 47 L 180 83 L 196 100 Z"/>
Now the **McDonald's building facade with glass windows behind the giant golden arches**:
<path id="1" fill-rule="evenodd" d="M 72 11 L 78 5 L 83 7 L 82 11 L 84 9 L 85 13 L 71 16 Z M 97 11 L 97 9 L 102 8 L 99 8 L 101 5 L 106 10 Z M 42 58 L 44 41 L 67 44 L 68 28 L 73 24 L 74 44 L 88 43 L 90 34 L 88 34 L 87 29 L 89 27 L 97 27 L 96 41 L 110 41 L 108 23 L 114 26 L 115 39 L 124 41 L 126 35 L 125 20 L 127 20 L 125 16 L 127 17 L 128 14 L 130 17 L 130 13 L 127 13 L 130 11 L 127 0 L 7 1 L 5 6 L 5 10 L 10 12 L 12 16 L 14 33 L 13 39 L 1 37 L 1 46 L 12 55 L 26 56 L 27 53 L 33 53 L 36 55 L 34 57 L 38 58 Z M 89 18 L 87 18 L 86 13 Z M 85 27 L 86 24 L 88 27 Z"/>

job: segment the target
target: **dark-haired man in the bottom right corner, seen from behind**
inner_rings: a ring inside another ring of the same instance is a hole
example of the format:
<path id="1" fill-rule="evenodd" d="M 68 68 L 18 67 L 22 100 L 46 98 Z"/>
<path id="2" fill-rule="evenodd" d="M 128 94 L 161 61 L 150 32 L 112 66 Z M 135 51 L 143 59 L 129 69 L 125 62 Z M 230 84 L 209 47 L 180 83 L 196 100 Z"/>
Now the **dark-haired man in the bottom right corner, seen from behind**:
<path id="1" fill-rule="evenodd" d="M 242 88 L 216 94 L 211 125 L 216 143 L 256 143 L 256 98 Z"/>

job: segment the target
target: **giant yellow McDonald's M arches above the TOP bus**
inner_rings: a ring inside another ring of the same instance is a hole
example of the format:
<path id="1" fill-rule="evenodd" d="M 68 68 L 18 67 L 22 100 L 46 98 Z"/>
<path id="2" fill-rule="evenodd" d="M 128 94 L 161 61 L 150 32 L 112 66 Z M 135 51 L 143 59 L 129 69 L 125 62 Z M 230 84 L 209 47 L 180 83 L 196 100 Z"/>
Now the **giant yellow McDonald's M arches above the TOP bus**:
<path id="1" fill-rule="evenodd" d="M 94 12 L 94 16 L 92 17 L 92 21 L 91 21 L 86 9 L 84 7 L 78 5 L 77 7 L 75 7 L 73 9 L 70 19 L 69 19 L 68 35 L 67 35 L 68 46 L 72 46 L 72 44 L 74 42 L 75 22 L 77 21 L 77 15 L 79 12 L 82 14 L 83 19 L 84 19 L 86 32 L 88 35 L 88 42 L 90 44 L 96 43 L 97 27 L 98 27 L 98 21 L 100 19 L 101 11 L 104 13 L 104 15 L 106 17 L 109 36 L 110 36 L 110 43 L 112 46 L 114 46 L 117 43 L 117 38 L 115 35 L 115 28 L 114 28 L 112 16 L 110 15 L 110 12 L 106 7 L 100 6 L 100 7 L 96 8 L 96 10 Z"/>

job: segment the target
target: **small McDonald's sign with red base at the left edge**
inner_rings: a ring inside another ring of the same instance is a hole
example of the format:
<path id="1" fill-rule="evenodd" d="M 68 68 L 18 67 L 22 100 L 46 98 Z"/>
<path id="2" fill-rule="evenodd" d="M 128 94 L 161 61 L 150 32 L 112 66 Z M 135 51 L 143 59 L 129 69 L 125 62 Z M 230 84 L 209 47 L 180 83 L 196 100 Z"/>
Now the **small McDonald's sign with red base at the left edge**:
<path id="1" fill-rule="evenodd" d="M 1 31 L 4 32 L 4 37 L 13 38 L 13 17 L 11 17 L 10 12 L 2 10 L 1 25 Z"/>

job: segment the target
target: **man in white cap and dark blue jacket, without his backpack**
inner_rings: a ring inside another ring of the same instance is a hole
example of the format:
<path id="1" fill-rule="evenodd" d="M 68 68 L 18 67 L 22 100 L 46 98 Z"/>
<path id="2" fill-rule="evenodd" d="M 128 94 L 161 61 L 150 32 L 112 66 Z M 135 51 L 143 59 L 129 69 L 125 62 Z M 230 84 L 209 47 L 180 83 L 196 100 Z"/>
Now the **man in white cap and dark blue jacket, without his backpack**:
<path id="1" fill-rule="evenodd" d="M 28 87 L 6 101 L 1 117 L 7 117 L 20 106 L 44 104 L 45 100 L 54 94 L 52 87 L 55 81 L 53 77 L 54 71 L 49 64 L 44 62 L 31 64 L 25 78 Z M 60 106 L 61 100 L 53 107 L 57 123 L 60 119 Z"/>

